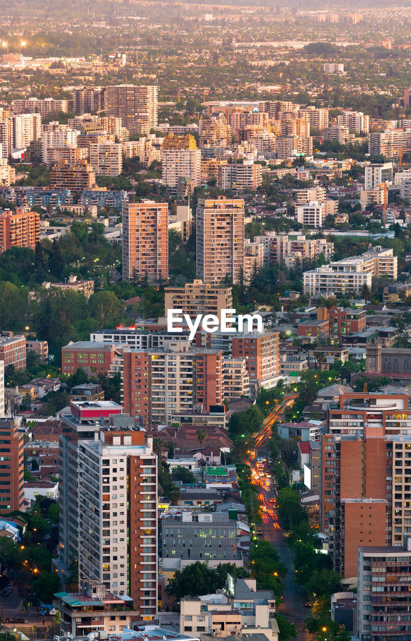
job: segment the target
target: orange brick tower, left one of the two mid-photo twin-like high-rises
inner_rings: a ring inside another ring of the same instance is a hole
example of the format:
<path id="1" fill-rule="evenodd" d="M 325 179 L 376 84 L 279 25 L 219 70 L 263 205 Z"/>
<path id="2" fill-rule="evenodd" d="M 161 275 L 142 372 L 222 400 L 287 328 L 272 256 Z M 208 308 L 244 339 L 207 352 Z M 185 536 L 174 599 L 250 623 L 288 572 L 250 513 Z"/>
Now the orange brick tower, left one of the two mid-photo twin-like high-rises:
<path id="1" fill-rule="evenodd" d="M 123 203 L 123 280 L 168 278 L 168 204 Z"/>

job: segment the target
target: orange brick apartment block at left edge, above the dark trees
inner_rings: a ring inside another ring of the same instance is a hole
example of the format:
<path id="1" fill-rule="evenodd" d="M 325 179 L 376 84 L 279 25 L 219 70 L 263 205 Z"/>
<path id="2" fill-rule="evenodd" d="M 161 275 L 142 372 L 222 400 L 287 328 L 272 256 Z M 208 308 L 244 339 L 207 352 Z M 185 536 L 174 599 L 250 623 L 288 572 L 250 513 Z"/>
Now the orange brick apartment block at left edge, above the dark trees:
<path id="1" fill-rule="evenodd" d="M 10 247 L 35 249 L 40 238 L 40 215 L 30 207 L 17 207 L 15 212 L 0 214 L 0 253 Z"/>

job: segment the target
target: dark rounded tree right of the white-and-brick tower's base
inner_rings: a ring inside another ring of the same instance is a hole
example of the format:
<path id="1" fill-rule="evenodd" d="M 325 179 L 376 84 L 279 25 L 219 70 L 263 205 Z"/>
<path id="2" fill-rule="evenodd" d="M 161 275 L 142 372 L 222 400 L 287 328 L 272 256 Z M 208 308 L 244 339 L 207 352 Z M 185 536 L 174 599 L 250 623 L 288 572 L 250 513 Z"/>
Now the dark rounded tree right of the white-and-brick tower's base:
<path id="1" fill-rule="evenodd" d="M 209 568 L 207 563 L 196 561 L 187 565 L 184 570 L 175 570 L 173 578 L 168 580 L 166 592 L 180 601 L 185 595 L 198 597 L 215 592 L 219 587 L 217 572 Z"/>

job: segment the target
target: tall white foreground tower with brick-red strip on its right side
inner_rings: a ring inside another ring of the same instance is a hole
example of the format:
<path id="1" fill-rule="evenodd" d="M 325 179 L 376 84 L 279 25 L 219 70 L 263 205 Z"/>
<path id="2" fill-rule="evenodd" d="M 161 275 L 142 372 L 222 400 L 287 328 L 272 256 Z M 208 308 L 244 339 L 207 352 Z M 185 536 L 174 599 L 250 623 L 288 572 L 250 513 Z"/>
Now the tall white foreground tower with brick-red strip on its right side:
<path id="1" fill-rule="evenodd" d="M 135 435 L 101 430 L 99 440 L 79 442 L 79 583 L 99 581 L 113 594 L 143 588 L 141 601 L 147 600 L 152 614 L 157 610 L 157 465 L 150 445 L 133 444 Z M 137 560 L 143 565 L 134 586 Z"/>

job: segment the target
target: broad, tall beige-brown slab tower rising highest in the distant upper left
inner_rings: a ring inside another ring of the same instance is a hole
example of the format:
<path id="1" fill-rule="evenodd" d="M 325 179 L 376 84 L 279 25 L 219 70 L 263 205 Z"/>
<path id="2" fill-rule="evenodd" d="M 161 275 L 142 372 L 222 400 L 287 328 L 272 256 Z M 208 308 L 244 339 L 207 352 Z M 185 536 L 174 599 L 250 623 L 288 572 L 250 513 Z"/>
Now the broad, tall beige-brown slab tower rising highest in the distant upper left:
<path id="1" fill-rule="evenodd" d="M 115 85 L 104 90 L 104 112 L 122 119 L 127 129 L 134 122 L 147 124 L 149 130 L 158 125 L 158 87 Z"/>

